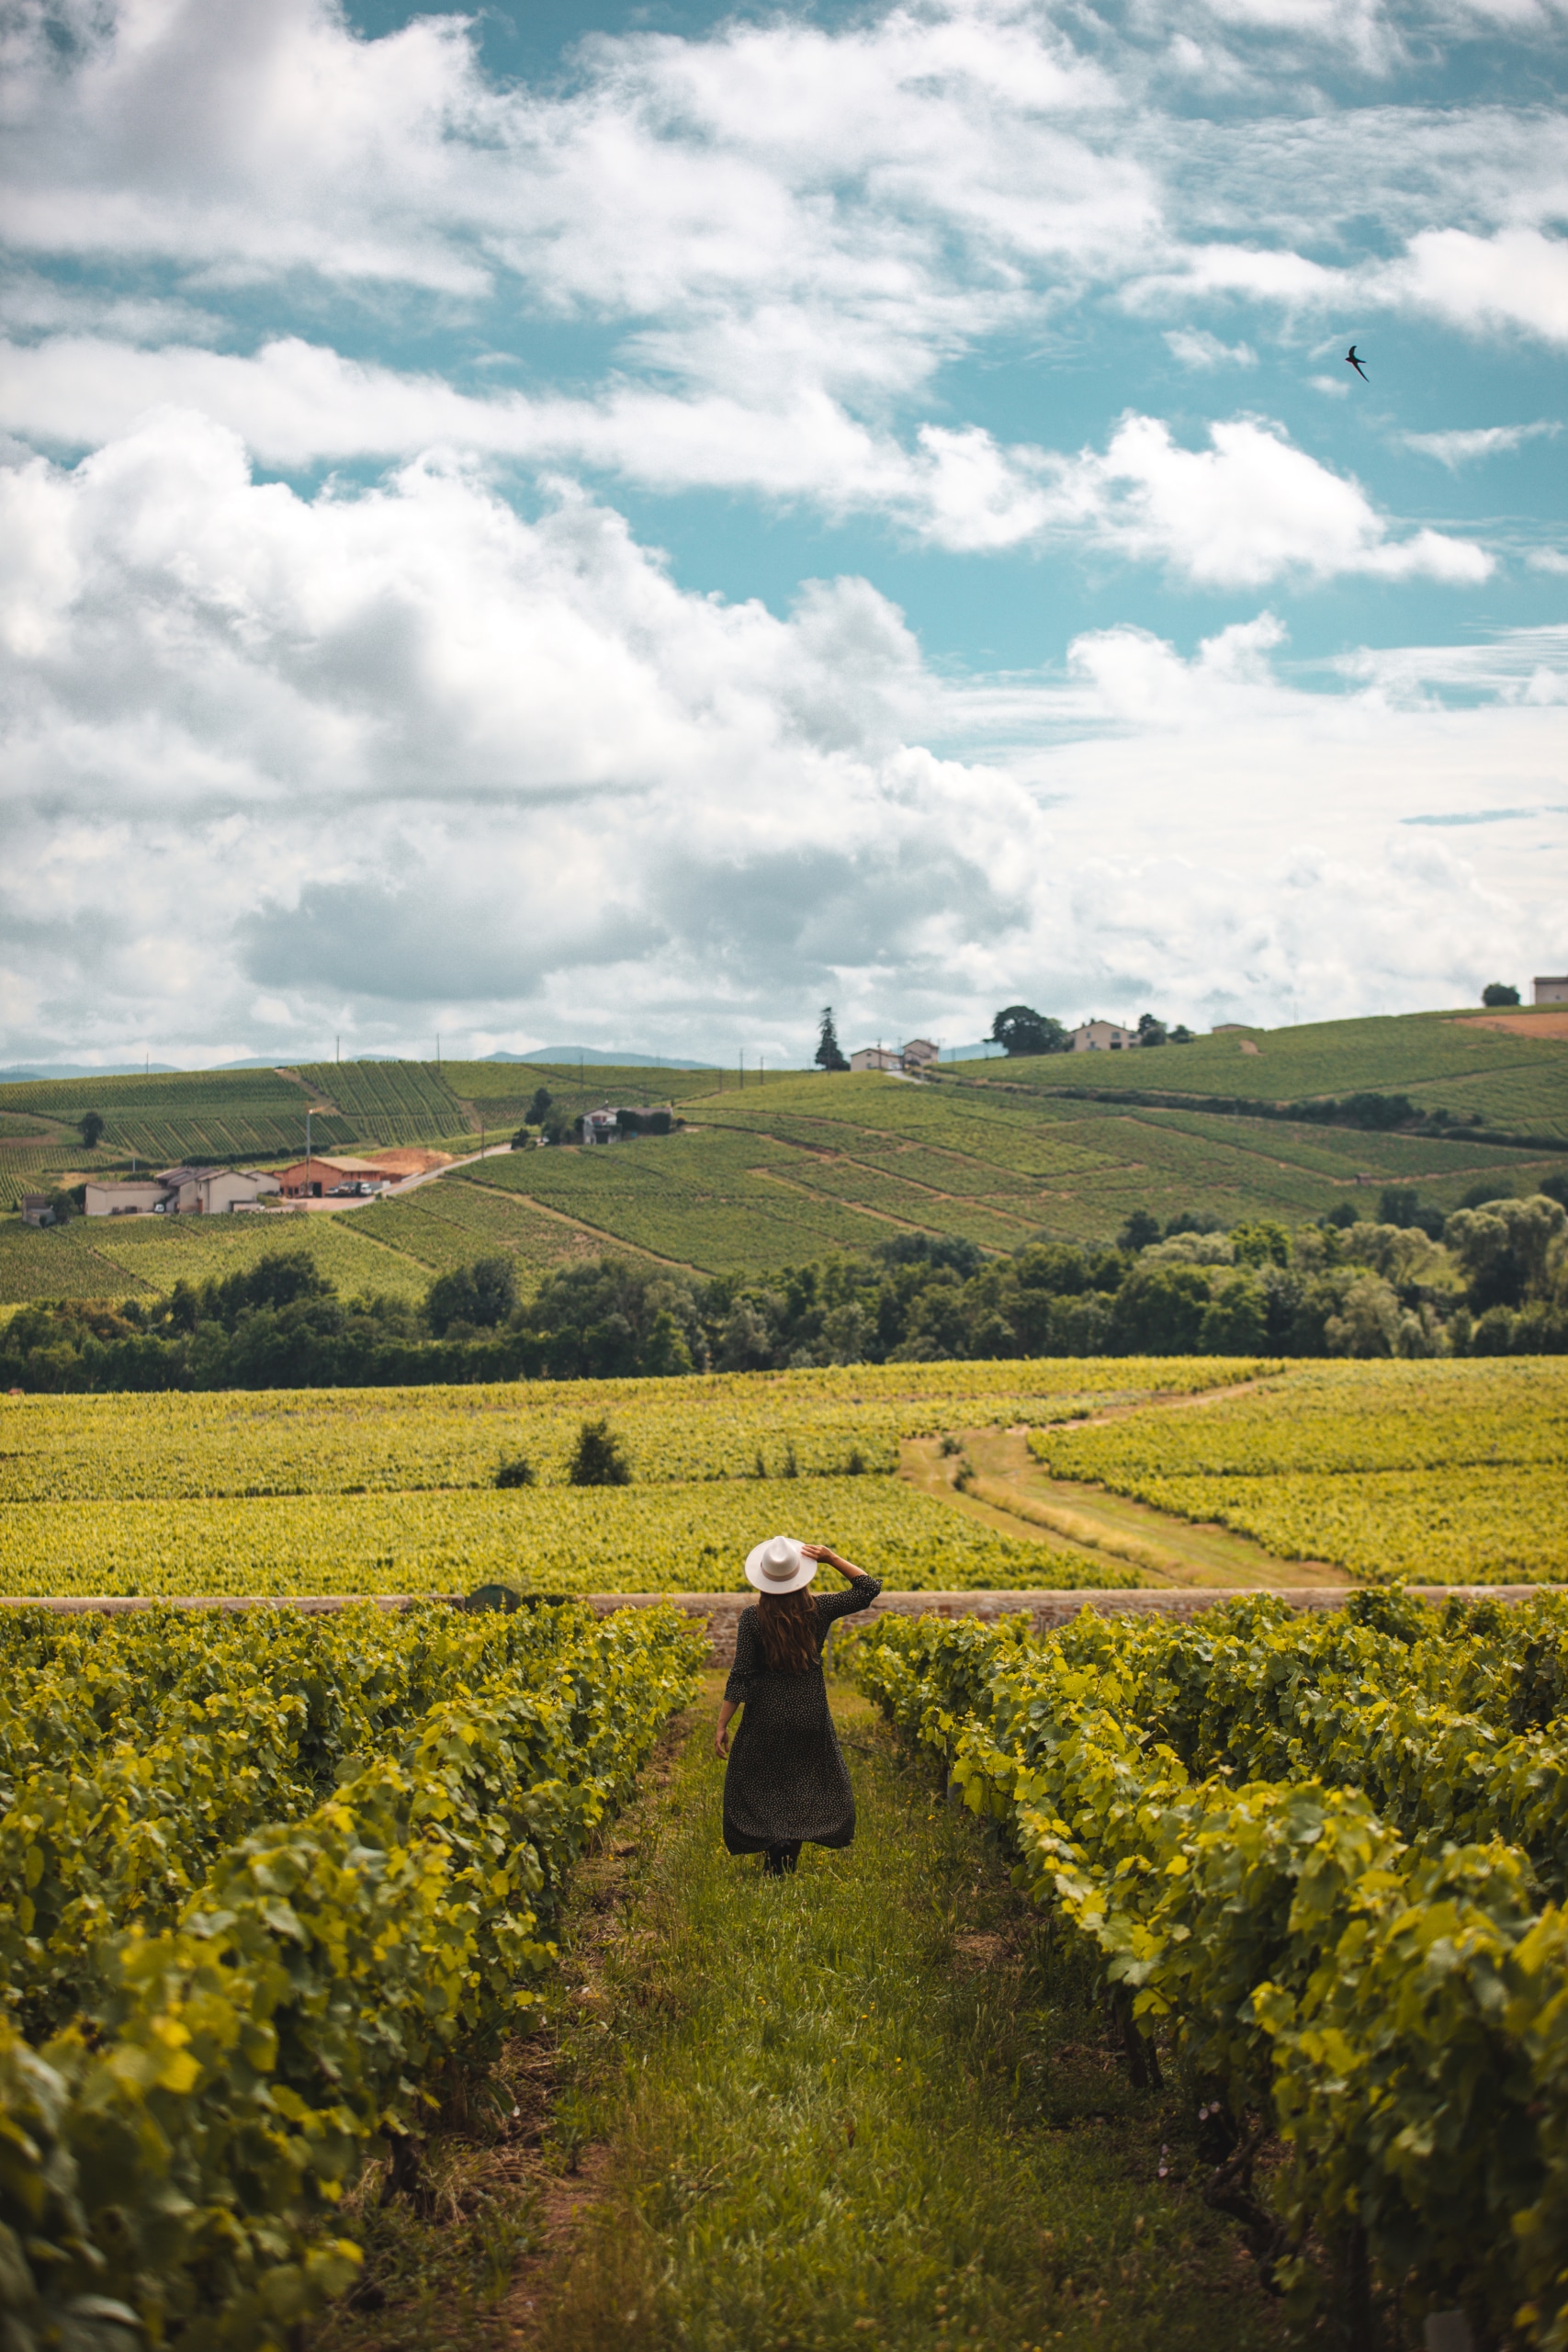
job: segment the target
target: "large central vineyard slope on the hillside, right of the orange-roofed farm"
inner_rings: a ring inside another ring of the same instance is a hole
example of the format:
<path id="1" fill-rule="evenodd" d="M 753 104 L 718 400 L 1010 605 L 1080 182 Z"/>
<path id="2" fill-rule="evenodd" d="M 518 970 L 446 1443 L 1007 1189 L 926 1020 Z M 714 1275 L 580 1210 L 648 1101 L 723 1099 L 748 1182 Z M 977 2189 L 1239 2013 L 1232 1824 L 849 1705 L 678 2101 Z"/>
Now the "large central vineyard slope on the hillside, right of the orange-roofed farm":
<path id="1" fill-rule="evenodd" d="M 959 1235 L 992 1251 L 1034 1237 L 1110 1242 L 1131 1209 L 1298 1223 L 1385 1183 L 1420 1183 L 1427 1200 L 1458 1207 L 1476 1176 L 1512 1188 L 1556 1164 L 1436 1136 L 877 1075 L 769 1080 L 686 1098 L 682 1117 L 693 1131 L 668 1141 L 520 1152 L 447 1183 L 527 1192 L 611 1242 L 741 1272 L 875 1249 L 896 1232 Z"/>

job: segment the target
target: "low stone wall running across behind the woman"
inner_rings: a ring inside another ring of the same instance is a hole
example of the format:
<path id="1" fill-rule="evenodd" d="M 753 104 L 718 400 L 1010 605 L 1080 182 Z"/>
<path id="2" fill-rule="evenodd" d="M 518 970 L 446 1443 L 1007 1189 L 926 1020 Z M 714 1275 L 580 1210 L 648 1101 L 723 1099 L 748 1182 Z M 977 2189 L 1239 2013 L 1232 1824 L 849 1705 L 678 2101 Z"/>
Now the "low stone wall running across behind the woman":
<path id="1" fill-rule="evenodd" d="M 1079 1609 L 1105 1609 L 1114 1616 L 1173 1616 L 1194 1618 L 1204 1609 L 1213 1609 L 1218 1602 L 1241 1599 L 1244 1592 L 1272 1590 L 1265 1585 L 1182 1585 L 1182 1588 L 1157 1588 L 1138 1592 L 884 1592 L 863 1613 L 858 1623 L 870 1623 L 879 1616 L 976 1616 L 983 1623 L 994 1623 L 999 1616 L 1013 1616 L 1027 1611 L 1034 1621 L 1037 1632 L 1048 1625 L 1065 1625 L 1067 1618 L 1077 1616 Z M 1352 1585 L 1286 1585 L 1274 1590 L 1274 1599 L 1281 1599 L 1288 1609 L 1340 1609 Z M 1526 1602 L 1537 1592 L 1563 1592 L 1566 1585 L 1410 1585 L 1418 1599 L 1446 1602 L 1450 1597 L 1479 1602 Z M 122 1595 L 122 1592 L 92 1592 L 92 1595 L 61 1595 L 61 1597 L 28 1597 L 28 1595 L 0 1595 L 0 1606 L 5 1609 L 54 1609 L 61 1616 L 82 1616 L 99 1611 L 101 1616 L 127 1616 L 134 1609 L 301 1609 L 306 1616 L 331 1616 L 339 1609 L 355 1609 L 371 1602 L 376 1609 L 411 1609 L 414 1602 L 449 1602 L 458 1606 L 461 1592 L 277 1592 L 277 1595 L 233 1595 L 233 1592 L 200 1592 L 200 1595 Z M 708 1628 L 710 1665 L 729 1665 L 736 1656 L 736 1625 L 741 1623 L 741 1611 L 750 1606 L 750 1592 L 585 1592 L 583 1599 L 609 1616 L 611 1609 L 658 1609 L 663 1602 L 675 1602 L 684 1609 L 689 1618 L 701 1621 Z M 853 1618 L 849 1623 L 856 1623 Z"/>

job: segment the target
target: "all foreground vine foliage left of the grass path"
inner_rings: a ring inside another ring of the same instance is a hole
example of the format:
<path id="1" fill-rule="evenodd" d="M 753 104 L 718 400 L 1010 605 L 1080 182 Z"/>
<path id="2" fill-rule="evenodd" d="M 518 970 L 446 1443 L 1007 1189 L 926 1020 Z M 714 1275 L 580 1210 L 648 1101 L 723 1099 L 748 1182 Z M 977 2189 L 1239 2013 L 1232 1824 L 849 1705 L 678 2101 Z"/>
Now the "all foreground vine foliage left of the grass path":
<path id="1" fill-rule="evenodd" d="M 357 2274 L 369 2145 L 527 2023 L 701 1644 L 571 1604 L 0 1637 L 7 2352 L 282 2347 Z"/>

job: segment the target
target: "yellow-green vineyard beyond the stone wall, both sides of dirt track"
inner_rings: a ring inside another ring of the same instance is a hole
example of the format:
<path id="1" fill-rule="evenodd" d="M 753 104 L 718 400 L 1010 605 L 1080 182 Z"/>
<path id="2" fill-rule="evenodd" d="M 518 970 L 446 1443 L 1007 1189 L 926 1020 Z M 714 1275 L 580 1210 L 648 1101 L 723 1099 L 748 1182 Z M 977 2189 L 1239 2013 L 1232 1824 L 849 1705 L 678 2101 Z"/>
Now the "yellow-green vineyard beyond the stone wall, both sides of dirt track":
<path id="1" fill-rule="evenodd" d="M 1081 1425 L 1107 1406 L 1114 1418 Z M 1227 1524 L 1281 1583 L 1293 1559 L 1373 1583 L 1568 1573 L 1568 1371 L 1554 1359 L 863 1364 L 7 1397 L 0 1414 L 0 1592 L 428 1592 L 487 1576 L 729 1590 L 776 1524 L 905 1588 L 1135 1583 L 1110 1550 L 983 1519 L 898 1475 L 907 1439 L 1020 1428 L 1079 1494 L 1100 1484 Z M 578 1489 L 576 1435 L 599 1414 L 630 1484 Z M 515 1458 L 534 1482 L 498 1489 Z"/>

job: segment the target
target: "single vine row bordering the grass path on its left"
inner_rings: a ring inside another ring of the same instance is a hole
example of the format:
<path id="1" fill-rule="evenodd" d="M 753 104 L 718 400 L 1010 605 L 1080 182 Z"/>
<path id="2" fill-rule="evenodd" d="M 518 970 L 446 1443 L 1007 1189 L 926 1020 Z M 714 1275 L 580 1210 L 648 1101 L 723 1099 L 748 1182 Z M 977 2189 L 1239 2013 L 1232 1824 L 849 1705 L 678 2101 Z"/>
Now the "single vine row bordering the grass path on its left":
<path id="1" fill-rule="evenodd" d="M 259 1668 L 266 1639 L 254 1618 L 230 1635 Z M 353 2284 L 343 2190 L 371 2143 L 416 2140 L 444 2065 L 538 2002 L 562 1875 L 691 1689 L 672 1611 L 541 1613 L 503 1649 L 386 1752 L 343 1757 L 306 1813 L 223 1844 L 181 1903 L 139 1917 L 110 1877 L 71 2023 L 38 2044 L 0 2023 L 0 2314 L 24 2352 L 115 2319 L 179 2352 L 270 2352 Z M 287 1757 L 301 1710 L 277 1712 Z M 226 1731 L 193 1759 L 193 1809 Z M 174 1750 L 165 1771 L 174 1797 Z M 26 1802 L 7 1919 L 47 1957 Z"/>

